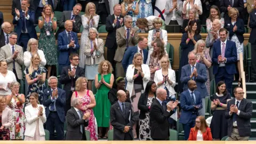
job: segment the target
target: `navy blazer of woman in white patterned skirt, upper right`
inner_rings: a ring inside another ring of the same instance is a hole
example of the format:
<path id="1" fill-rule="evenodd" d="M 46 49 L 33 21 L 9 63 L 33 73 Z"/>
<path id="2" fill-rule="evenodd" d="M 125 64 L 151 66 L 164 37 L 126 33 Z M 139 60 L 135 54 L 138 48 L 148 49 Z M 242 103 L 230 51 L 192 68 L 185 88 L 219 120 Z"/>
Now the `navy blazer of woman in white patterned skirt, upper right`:
<path id="1" fill-rule="evenodd" d="M 237 30 L 234 32 L 233 28 L 237 26 Z M 244 36 L 243 34 L 245 33 L 244 31 L 244 21 L 242 19 L 237 18 L 236 23 L 234 26 L 231 23 L 231 18 L 225 20 L 225 25 L 224 28 L 226 28 L 229 31 L 229 39 L 232 38 L 234 34 L 236 34 L 238 40 L 240 43 L 244 42 Z"/>

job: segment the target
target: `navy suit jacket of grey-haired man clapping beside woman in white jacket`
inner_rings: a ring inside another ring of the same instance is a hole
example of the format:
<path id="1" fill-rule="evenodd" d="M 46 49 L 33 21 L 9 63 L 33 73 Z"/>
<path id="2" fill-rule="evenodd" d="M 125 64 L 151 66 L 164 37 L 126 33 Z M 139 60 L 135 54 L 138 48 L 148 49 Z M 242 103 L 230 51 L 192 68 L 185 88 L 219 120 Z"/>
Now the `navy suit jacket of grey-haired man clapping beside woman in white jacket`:
<path id="1" fill-rule="evenodd" d="M 44 106 L 46 107 L 45 114 L 47 118 L 50 114 L 49 106 L 51 104 L 54 105 L 54 101 L 51 100 L 51 97 L 52 97 L 52 90 L 50 87 L 48 87 L 47 89 L 44 90 Z M 56 99 L 55 107 L 57 110 L 57 114 L 60 118 L 60 121 L 62 123 L 66 121 L 65 110 L 64 110 L 65 106 L 66 106 L 66 92 L 58 88 L 58 98 Z"/>

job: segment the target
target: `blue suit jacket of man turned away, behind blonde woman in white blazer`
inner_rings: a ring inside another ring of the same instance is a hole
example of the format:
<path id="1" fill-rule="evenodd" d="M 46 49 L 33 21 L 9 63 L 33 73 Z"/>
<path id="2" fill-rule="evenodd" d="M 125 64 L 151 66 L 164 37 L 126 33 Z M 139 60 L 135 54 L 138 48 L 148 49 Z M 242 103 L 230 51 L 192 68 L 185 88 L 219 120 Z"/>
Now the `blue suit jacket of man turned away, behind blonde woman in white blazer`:
<path id="1" fill-rule="evenodd" d="M 123 57 L 123 60 L 122 60 L 122 65 L 123 65 L 123 68 L 124 68 L 124 72 L 126 72 L 127 67 L 132 64 L 132 60 L 133 60 L 133 57 L 134 57 L 135 53 L 138 53 L 138 45 L 128 47 L 128 49 L 125 51 L 124 57 Z M 144 56 L 143 57 L 143 63 L 146 64 L 147 59 L 148 59 L 148 50 L 143 49 L 143 56 Z"/>

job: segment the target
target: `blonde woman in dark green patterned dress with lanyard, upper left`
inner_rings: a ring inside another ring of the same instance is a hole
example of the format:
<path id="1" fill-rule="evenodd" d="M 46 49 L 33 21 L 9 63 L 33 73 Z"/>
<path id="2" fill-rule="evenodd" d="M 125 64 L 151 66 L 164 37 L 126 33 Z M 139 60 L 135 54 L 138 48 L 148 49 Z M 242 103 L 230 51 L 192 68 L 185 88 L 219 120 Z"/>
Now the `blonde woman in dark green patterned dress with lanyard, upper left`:
<path id="1" fill-rule="evenodd" d="M 47 78 L 51 76 L 52 66 L 57 64 L 57 49 L 55 46 L 54 31 L 57 29 L 57 19 L 52 13 L 52 6 L 46 4 L 44 6 L 42 17 L 38 18 L 38 27 L 41 29 L 38 49 L 44 51 Z"/>

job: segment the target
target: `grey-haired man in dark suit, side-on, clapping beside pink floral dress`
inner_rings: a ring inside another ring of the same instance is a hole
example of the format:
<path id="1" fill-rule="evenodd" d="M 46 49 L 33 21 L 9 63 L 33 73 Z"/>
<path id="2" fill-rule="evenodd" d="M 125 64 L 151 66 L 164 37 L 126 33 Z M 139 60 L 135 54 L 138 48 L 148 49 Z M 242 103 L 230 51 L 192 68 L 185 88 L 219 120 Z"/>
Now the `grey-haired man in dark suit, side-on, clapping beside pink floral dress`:
<path id="1" fill-rule="evenodd" d="M 65 140 L 86 140 L 84 127 L 89 125 L 90 112 L 82 113 L 82 100 L 71 101 L 71 109 L 67 112 L 67 133 Z"/>

